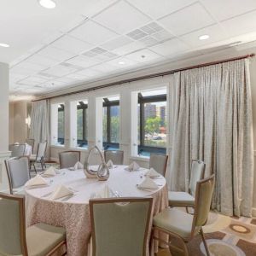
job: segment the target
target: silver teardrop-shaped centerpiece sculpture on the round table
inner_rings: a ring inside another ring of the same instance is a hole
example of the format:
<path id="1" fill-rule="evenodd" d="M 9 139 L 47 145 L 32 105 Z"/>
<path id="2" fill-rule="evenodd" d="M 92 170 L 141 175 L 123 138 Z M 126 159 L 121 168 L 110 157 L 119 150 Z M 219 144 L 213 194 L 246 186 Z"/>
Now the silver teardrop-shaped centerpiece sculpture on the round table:
<path id="1" fill-rule="evenodd" d="M 99 164 L 97 171 L 91 170 L 89 166 L 90 156 L 94 151 L 97 151 L 101 156 L 101 163 Z M 89 178 L 91 177 L 98 178 L 98 180 L 100 181 L 108 180 L 109 169 L 105 162 L 105 159 L 101 150 L 97 146 L 90 148 L 90 152 L 88 154 L 87 160 L 85 160 L 85 163 L 84 163 L 84 175 Z"/>

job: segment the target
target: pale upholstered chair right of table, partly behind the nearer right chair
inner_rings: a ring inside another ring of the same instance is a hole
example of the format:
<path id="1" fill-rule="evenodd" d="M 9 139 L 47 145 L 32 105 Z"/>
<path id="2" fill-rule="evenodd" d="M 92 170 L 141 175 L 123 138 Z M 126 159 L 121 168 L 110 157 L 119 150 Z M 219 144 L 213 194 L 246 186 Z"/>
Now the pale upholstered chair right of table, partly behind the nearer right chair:
<path id="1" fill-rule="evenodd" d="M 189 193 L 187 192 L 168 192 L 168 200 L 170 207 L 188 207 L 195 206 L 195 188 L 196 183 L 204 177 L 206 165 L 201 160 L 192 160 L 191 176 L 189 183 Z"/>

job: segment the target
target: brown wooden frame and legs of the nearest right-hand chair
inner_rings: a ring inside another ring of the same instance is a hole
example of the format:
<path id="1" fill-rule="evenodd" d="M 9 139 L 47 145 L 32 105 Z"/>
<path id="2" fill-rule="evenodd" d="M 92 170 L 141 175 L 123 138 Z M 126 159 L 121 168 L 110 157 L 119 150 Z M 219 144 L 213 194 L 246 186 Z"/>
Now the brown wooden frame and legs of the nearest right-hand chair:
<path id="1" fill-rule="evenodd" d="M 175 250 L 178 253 L 184 253 L 185 256 L 189 256 L 188 247 L 187 247 L 186 244 L 189 241 L 191 241 L 194 238 L 195 235 L 197 235 L 197 233 L 195 232 L 196 231 L 195 230 L 195 228 L 196 228 L 195 224 L 196 224 L 196 219 L 198 217 L 198 206 L 200 204 L 199 191 L 201 189 L 201 184 L 206 183 L 209 180 L 213 180 L 213 187 L 214 187 L 214 175 L 212 175 L 210 177 L 207 177 L 205 179 L 202 179 L 201 181 L 197 182 L 197 184 L 196 184 L 196 189 L 195 189 L 195 213 L 194 213 L 194 218 L 193 218 L 193 223 L 192 223 L 192 227 L 191 227 L 190 236 L 188 238 L 184 239 L 182 236 L 178 236 L 176 233 L 172 233 L 168 230 L 164 230 L 164 229 L 161 229 L 159 227 L 154 227 L 153 226 L 152 233 L 151 233 L 151 243 L 153 243 L 154 240 L 161 241 L 161 242 L 165 243 L 166 245 L 168 245 L 169 248 L 172 248 L 172 250 Z M 207 223 L 207 221 L 206 221 L 206 223 Z M 203 224 L 202 226 L 204 226 L 205 224 Z M 169 241 L 165 241 L 163 239 L 160 239 L 157 236 L 154 236 L 154 230 L 158 230 L 158 231 L 168 235 L 169 236 Z M 206 249 L 207 256 L 210 256 L 209 248 L 207 247 L 207 241 L 205 239 L 205 235 L 204 235 L 204 232 L 202 230 L 202 227 L 201 227 L 200 230 L 198 230 L 198 233 L 201 235 L 201 239 L 202 239 L 204 247 Z M 181 241 L 183 248 L 180 248 L 180 247 L 177 247 L 177 246 L 173 245 L 172 241 L 170 241 L 171 240 L 170 237 L 177 238 L 178 241 Z"/>

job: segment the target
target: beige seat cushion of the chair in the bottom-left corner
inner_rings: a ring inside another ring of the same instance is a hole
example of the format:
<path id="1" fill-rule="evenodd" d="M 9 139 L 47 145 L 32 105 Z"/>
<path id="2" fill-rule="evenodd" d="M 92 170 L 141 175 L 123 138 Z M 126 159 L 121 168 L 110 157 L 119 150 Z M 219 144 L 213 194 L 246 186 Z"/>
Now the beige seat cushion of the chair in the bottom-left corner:
<path id="1" fill-rule="evenodd" d="M 61 227 L 38 223 L 26 229 L 26 246 L 29 256 L 45 256 L 65 240 L 66 232 Z"/>

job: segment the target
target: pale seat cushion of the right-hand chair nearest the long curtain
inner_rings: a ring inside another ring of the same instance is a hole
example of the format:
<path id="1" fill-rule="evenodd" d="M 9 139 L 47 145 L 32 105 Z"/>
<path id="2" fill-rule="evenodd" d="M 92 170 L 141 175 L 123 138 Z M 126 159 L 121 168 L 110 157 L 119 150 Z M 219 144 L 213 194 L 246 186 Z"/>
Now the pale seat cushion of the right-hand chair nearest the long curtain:
<path id="1" fill-rule="evenodd" d="M 168 200 L 170 207 L 194 207 L 195 198 L 186 192 L 168 192 Z"/>

